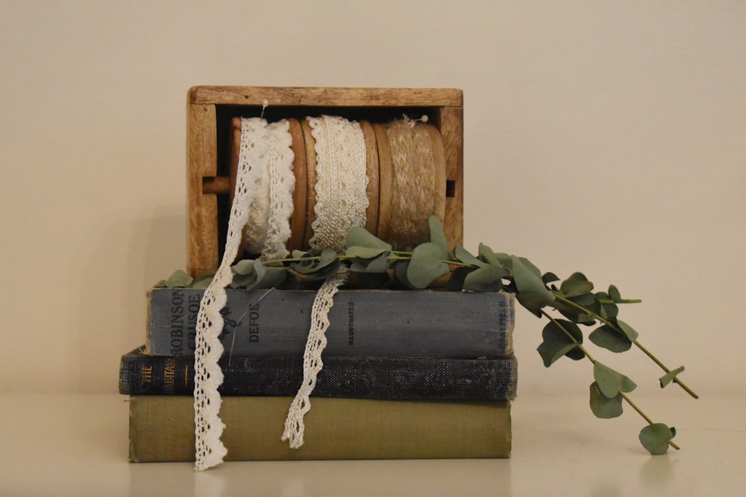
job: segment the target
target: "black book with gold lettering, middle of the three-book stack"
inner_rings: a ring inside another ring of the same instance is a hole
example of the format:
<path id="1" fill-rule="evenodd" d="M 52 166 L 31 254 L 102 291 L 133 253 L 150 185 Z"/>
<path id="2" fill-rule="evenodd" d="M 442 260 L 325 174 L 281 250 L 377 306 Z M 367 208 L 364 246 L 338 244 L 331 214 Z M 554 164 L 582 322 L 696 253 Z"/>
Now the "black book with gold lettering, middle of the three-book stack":
<path id="1" fill-rule="evenodd" d="M 511 400 L 518 381 L 515 355 L 495 359 L 340 357 L 322 355 L 313 396 L 348 399 Z M 223 357 L 224 396 L 295 396 L 302 356 Z M 119 393 L 192 395 L 194 357 L 122 355 Z"/>

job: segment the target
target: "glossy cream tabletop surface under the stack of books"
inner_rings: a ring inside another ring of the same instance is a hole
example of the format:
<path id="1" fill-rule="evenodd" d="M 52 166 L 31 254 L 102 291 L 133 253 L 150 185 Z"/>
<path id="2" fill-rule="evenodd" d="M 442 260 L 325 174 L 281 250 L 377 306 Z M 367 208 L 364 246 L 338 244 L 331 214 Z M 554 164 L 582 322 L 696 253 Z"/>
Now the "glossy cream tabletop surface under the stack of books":
<path id="1" fill-rule="evenodd" d="M 0 496 L 742 496 L 746 399 L 637 399 L 677 428 L 651 456 L 633 411 L 598 420 L 587 399 L 519 396 L 506 460 L 127 462 L 118 395 L 0 396 Z M 671 415 L 672 414 L 672 415 Z"/>

